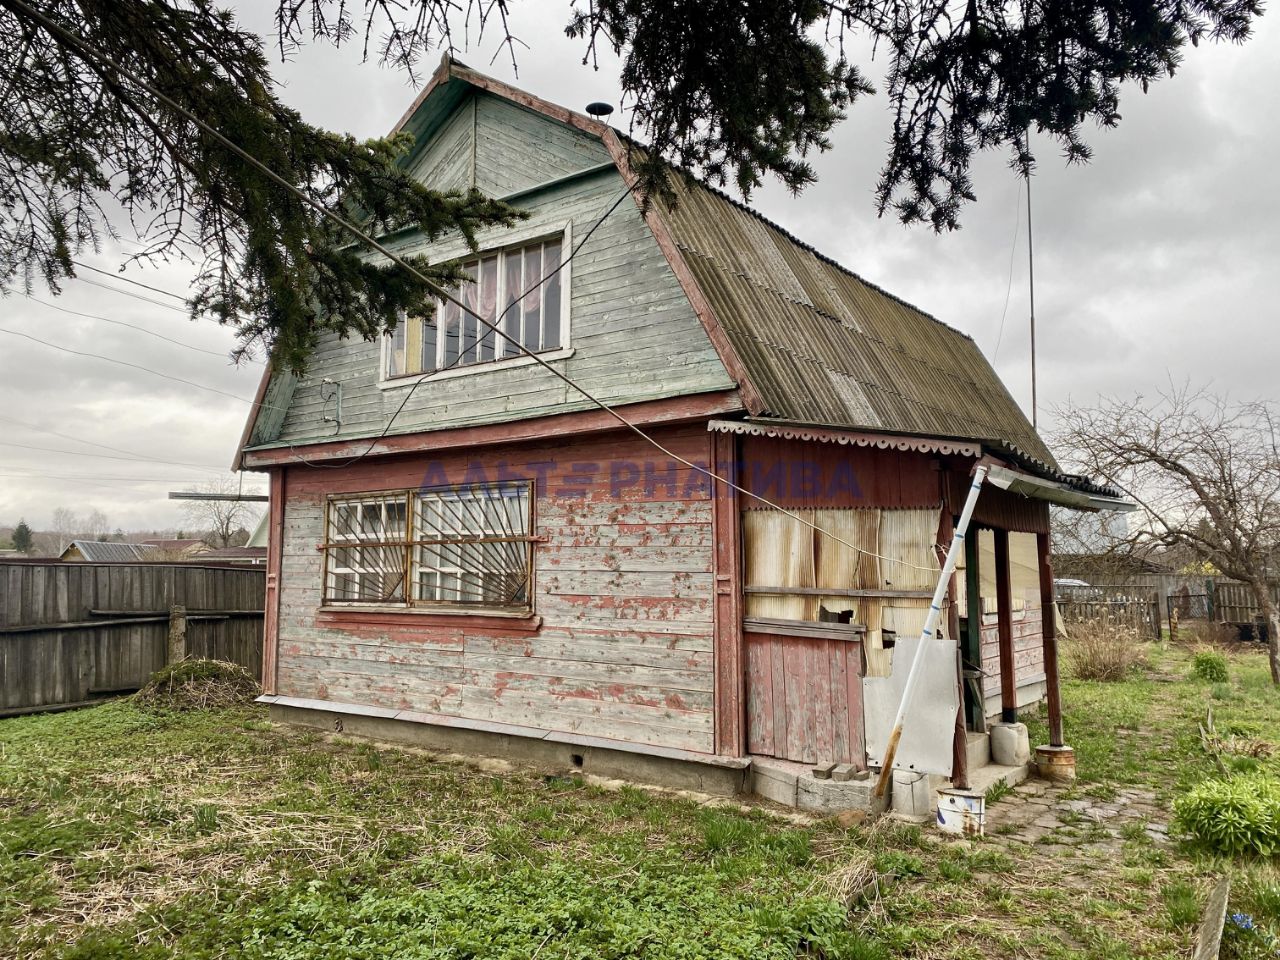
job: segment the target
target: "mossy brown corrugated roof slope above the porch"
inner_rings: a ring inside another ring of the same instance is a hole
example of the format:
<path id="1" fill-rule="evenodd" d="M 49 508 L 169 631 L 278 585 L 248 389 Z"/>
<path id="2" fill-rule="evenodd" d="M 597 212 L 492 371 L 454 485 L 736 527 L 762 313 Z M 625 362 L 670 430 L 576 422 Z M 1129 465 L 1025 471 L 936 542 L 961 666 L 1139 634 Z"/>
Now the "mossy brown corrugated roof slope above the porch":
<path id="1" fill-rule="evenodd" d="M 655 204 L 767 416 L 992 440 L 1056 472 L 977 344 L 759 214 L 673 178 Z"/>

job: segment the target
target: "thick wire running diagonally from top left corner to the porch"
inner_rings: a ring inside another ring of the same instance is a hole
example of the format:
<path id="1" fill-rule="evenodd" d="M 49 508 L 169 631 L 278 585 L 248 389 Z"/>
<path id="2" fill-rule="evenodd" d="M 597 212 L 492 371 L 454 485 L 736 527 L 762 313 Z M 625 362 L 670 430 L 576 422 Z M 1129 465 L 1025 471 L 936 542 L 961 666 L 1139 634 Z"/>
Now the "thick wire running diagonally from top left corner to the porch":
<path id="1" fill-rule="evenodd" d="M 893 563 L 893 564 L 897 564 L 897 566 L 911 567 L 911 568 L 915 568 L 915 570 L 927 571 L 929 573 L 936 573 L 937 572 L 936 567 L 923 567 L 923 566 L 919 566 L 919 564 L 915 564 L 915 563 L 910 563 L 908 561 L 901 561 L 901 559 L 896 559 L 896 558 L 892 558 L 892 557 L 882 557 L 882 556 L 879 556 L 877 553 L 873 553 L 873 552 L 867 550 L 867 549 L 864 549 L 861 547 L 858 547 L 858 545 L 855 545 L 855 544 L 845 540 L 844 538 L 837 536 L 836 534 L 832 534 L 828 530 L 823 530 L 822 527 L 819 527 L 813 521 L 805 520 L 804 517 L 801 517 L 800 515 L 795 513 L 794 511 L 788 511 L 785 507 L 782 507 L 782 506 L 780 506 L 780 504 L 769 500 L 768 498 L 762 497 L 762 495 L 759 495 L 759 494 L 756 494 L 756 493 L 754 493 L 751 490 L 748 490 L 745 486 L 741 486 L 741 485 L 736 484 L 732 480 L 728 480 L 728 479 L 726 479 L 723 476 L 719 476 L 714 471 L 712 471 L 712 470 L 709 470 L 709 468 L 707 468 L 704 466 L 700 466 L 698 463 L 694 463 L 692 461 L 686 460 L 685 457 L 681 457 L 680 454 L 675 453 L 673 451 L 667 449 L 666 447 L 663 447 L 663 444 L 660 442 L 658 442 L 657 439 L 654 439 L 653 436 L 650 436 L 649 434 L 646 434 L 644 431 L 644 429 L 641 429 L 636 424 L 632 424 L 622 413 L 620 413 L 612 406 L 609 406 L 605 401 L 603 401 L 603 399 L 598 398 L 596 396 L 594 396 L 590 390 L 588 390 L 585 387 L 582 387 L 581 384 L 579 384 L 577 381 L 575 381 L 567 374 L 564 374 L 564 372 L 557 370 L 556 367 L 553 367 L 547 360 L 544 360 L 543 357 L 538 356 L 535 352 L 530 351 L 522 343 L 520 343 L 520 342 L 512 339 L 511 337 L 508 337 L 506 333 L 503 333 L 497 326 L 494 326 L 492 323 L 489 323 L 485 317 L 480 316 L 474 310 L 471 310 L 470 307 L 467 307 L 466 303 L 463 303 L 461 300 L 458 300 L 452 293 L 449 293 L 449 291 L 447 291 L 439 283 L 436 283 L 431 278 L 426 276 L 421 270 L 419 270 L 417 268 L 415 268 L 412 264 L 407 262 L 403 257 L 401 257 L 399 255 L 397 255 L 394 251 L 389 250 L 383 243 L 379 243 L 374 237 L 371 237 L 370 234 L 367 234 L 360 227 L 355 225 L 353 223 L 351 223 L 349 220 L 347 220 L 340 214 L 338 214 L 338 212 L 335 212 L 335 211 L 333 211 L 333 210 L 330 210 L 328 207 L 325 207 L 323 204 L 320 204 L 319 201 L 316 201 L 314 197 L 307 196 L 307 193 L 305 193 L 297 186 L 289 183 L 287 179 L 284 179 L 280 174 L 278 174 L 275 170 L 273 170 L 265 163 L 262 163 L 256 156 L 253 156 L 252 154 L 250 154 L 247 150 L 244 150 L 243 147 L 241 147 L 238 143 L 236 143 L 234 141 L 232 141 L 229 137 L 227 137 L 224 133 L 221 133 L 220 131 L 218 131 L 215 127 L 212 127 L 211 124 L 209 124 L 207 122 L 205 122 L 204 119 L 201 119 L 200 116 L 197 116 L 196 114 L 193 114 L 191 110 L 188 110 L 187 108 L 184 108 L 182 104 L 178 104 L 175 100 L 173 100 L 172 97 L 166 96 L 164 92 L 161 92 L 155 86 L 152 86 L 151 83 L 148 83 L 143 77 L 138 76 L 138 73 L 136 73 L 134 70 L 129 69 L 128 67 L 118 63 L 116 60 L 113 60 L 110 56 L 108 56 L 101 50 L 96 49 L 88 41 L 86 41 L 83 37 L 81 37 L 78 33 L 76 33 L 74 31 L 68 29 L 67 27 L 64 27 L 63 24 L 60 24 L 58 20 L 54 20 L 52 18 L 50 18 L 49 15 L 46 15 L 45 13 L 42 13 L 41 10 L 37 10 L 36 8 L 31 6 L 28 3 L 26 3 L 26 0 L 5 0 L 5 3 L 6 3 L 6 5 L 10 6 L 10 9 L 14 9 L 15 12 L 24 14 L 27 17 L 27 19 L 35 20 L 36 23 L 38 23 L 40 26 L 42 26 L 45 29 L 47 29 L 51 33 L 61 37 L 63 41 L 65 44 L 68 44 L 73 49 L 73 52 L 76 52 L 76 55 L 78 55 L 79 58 L 82 58 L 82 59 L 91 59 L 91 60 L 96 61 L 99 65 L 110 68 L 111 70 L 116 72 L 122 77 L 127 77 L 128 79 L 133 81 L 136 84 L 138 84 L 138 87 L 141 87 L 143 91 L 146 91 L 147 93 L 150 93 L 159 102 L 164 104 L 170 110 L 173 110 L 177 114 L 179 114 L 188 123 L 192 123 L 196 127 L 198 127 L 200 129 L 202 129 L 210 137 L 212 137 L 219 143 L 221 143 L 224 147 L 227 147 L 233 154 L 236 154 L 238 157 L 241 157 L 244 163 L 250 164 L 256 170 L 259 170 L 260 173 L 262 173 L 273 183 L 276 183 L 279 187 L 284 188 L 287 192 L 289 192 L 291 195 L 293 195 L 294 197 L 297 197 L 301 202 L 303 202 L 306 206 L 311 207 L 314 211 L 316 211 L 321 216 L 324 216 L 324 218 L 329 219 L 330 221 L 335 223 L 337 225 L 342 227 L 352 237 L 356 237 L 357 239 L 360 239 L 366 246 L 369 246 L 372 250 L 378 251 L 379 253 L 381 253 L 383 256 L 385 256 L 388 260 L 390 260 L 393 264 L 396 264 L 401 269 L 407 270 L 412 276 L 415 276 L 428 289 L 433 291 L 435 293 L 435 296 L 438 296 L 442 300 L 445 300 L 445 301 L 453 303 L 454 306 L 458 307 L 458 310 L 468 314 L 470 316 L 475 317 L 479 323 L 481 323 L 485 326 L 488 326 L 493 333 L 495 333 L 497 335 L 502 337 L 504 340 L 507 340 L 508 343 L 511 343 L 512 346 L 515 346 L 525 356 L 532 358 L 532 361 L 535 364 L 538 364 L 544 370 L 547 370 L 548 372 L 550 372 L 558 380 L 563 381 L 566 387 L 570 387 L 573 390 L 576 390 L 577 393 L 580 393 L 586 401 L 589 401 L 590 403 L 594 403 L 603 412 L 608 413 L 611 417 L 613 417 L 614 420 L 617 420 L 621 426 L 623 426 L 625 429 L 627 429 L 631 433 L 634 433 L 636 436 L 639 436 L 641 440 L 644 440 L 645 443 L 648 443 L 649 445 L 652 445 L 653 448 L 655 448 L 663 456 L 669 457 L 671 460 L 673 460 L 677 463 L 682 463 L 684 466 L 689 467 L 690 470 L 694 470 L 695 472 L 705 475 L 708 479 L 712 480 L 713 484 L 714 483 L 724 484 L 724 486 L 727 486 L 728 489 L 736 490 L 737 493 L 742 494 L 744 497 L 749 497 L 749 498 L 751 498 L 751 499 L 754 499 L 754 500 L 756 500 L 759 503 L 765 504 L 767 507 L 771 507 L 772 509 L 778 511 L 783 516 L 787 516 L 791 520 L 801 524 L 803 526 L 806 526 L 806 527 L 812 529 L 815 534 L 819 534 L 822 536 L 827 536 L 831 540 L 833 540 L 833 541 L 836 541 L 838 544 L 842 544 L 844 547 L 847 547 L 849 549 L 854 550 L 855 553 L 859 553 L 859 554 L 865 556 L 865 557 L 873 557 L 873 558 L 883 561 L 886 563 Z M 123 291 L 120 291 L 120 292 L 123 292 Z M 241 398 L 237 398 L 237 399 L 241 399 Z M 252 402 L 252 401 L 246 401 L 246 402 Z"/>

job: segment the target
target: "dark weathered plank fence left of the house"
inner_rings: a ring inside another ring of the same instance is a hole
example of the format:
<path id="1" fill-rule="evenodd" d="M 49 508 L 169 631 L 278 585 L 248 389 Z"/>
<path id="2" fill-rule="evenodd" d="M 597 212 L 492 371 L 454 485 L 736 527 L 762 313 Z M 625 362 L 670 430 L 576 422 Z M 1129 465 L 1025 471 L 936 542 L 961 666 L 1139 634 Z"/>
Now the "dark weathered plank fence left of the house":
<path id="1" fill-rule="evenodd" d="M 246 567 L 0 562 L 0 716 L 137 690 L 174 655 L 261 676 L 265 584 Z"/>

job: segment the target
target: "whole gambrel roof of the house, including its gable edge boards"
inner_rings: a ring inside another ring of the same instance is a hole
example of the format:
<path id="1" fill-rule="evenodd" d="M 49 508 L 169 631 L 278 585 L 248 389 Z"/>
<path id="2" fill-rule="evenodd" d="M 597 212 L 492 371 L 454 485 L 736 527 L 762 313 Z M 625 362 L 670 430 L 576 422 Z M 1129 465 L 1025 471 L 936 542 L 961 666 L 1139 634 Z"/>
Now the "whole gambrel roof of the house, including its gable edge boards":
<path id="1" fill-rule="evenodd" d="M 607 124 L 448 56 L 397 131 L 430 136 L 470 88 L 599 138 L 620 173 L 631 178 L 632 147 Z M 676 206 L 654 200 L 645 220 L 754 419 L 982 440 L 1036 472 L 1103 489 L 1059 471 L 970 337 L 719 191 L 682 178 L 673 187 Z M 242 451 L 255 434 L 266 389 L 264 378 Z"/>

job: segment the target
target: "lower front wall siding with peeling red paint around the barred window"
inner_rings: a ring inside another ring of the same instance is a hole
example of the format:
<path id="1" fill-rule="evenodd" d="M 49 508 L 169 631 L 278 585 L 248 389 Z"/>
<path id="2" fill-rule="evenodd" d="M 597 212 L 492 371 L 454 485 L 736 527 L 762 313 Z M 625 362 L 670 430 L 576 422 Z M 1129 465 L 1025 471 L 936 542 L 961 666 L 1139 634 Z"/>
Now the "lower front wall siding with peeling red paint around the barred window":
<path id="1" fill-rule="evenodd" d="M 701 426 L 668 428 L 705 462 Z M 328 494 L 535 480 L 540 621 L 320 611 Z M 705 479 L 626 435 L 572 447 L 383 458 L 285 476 L 276 691 L 713 751 L 712 500 Z"/>

